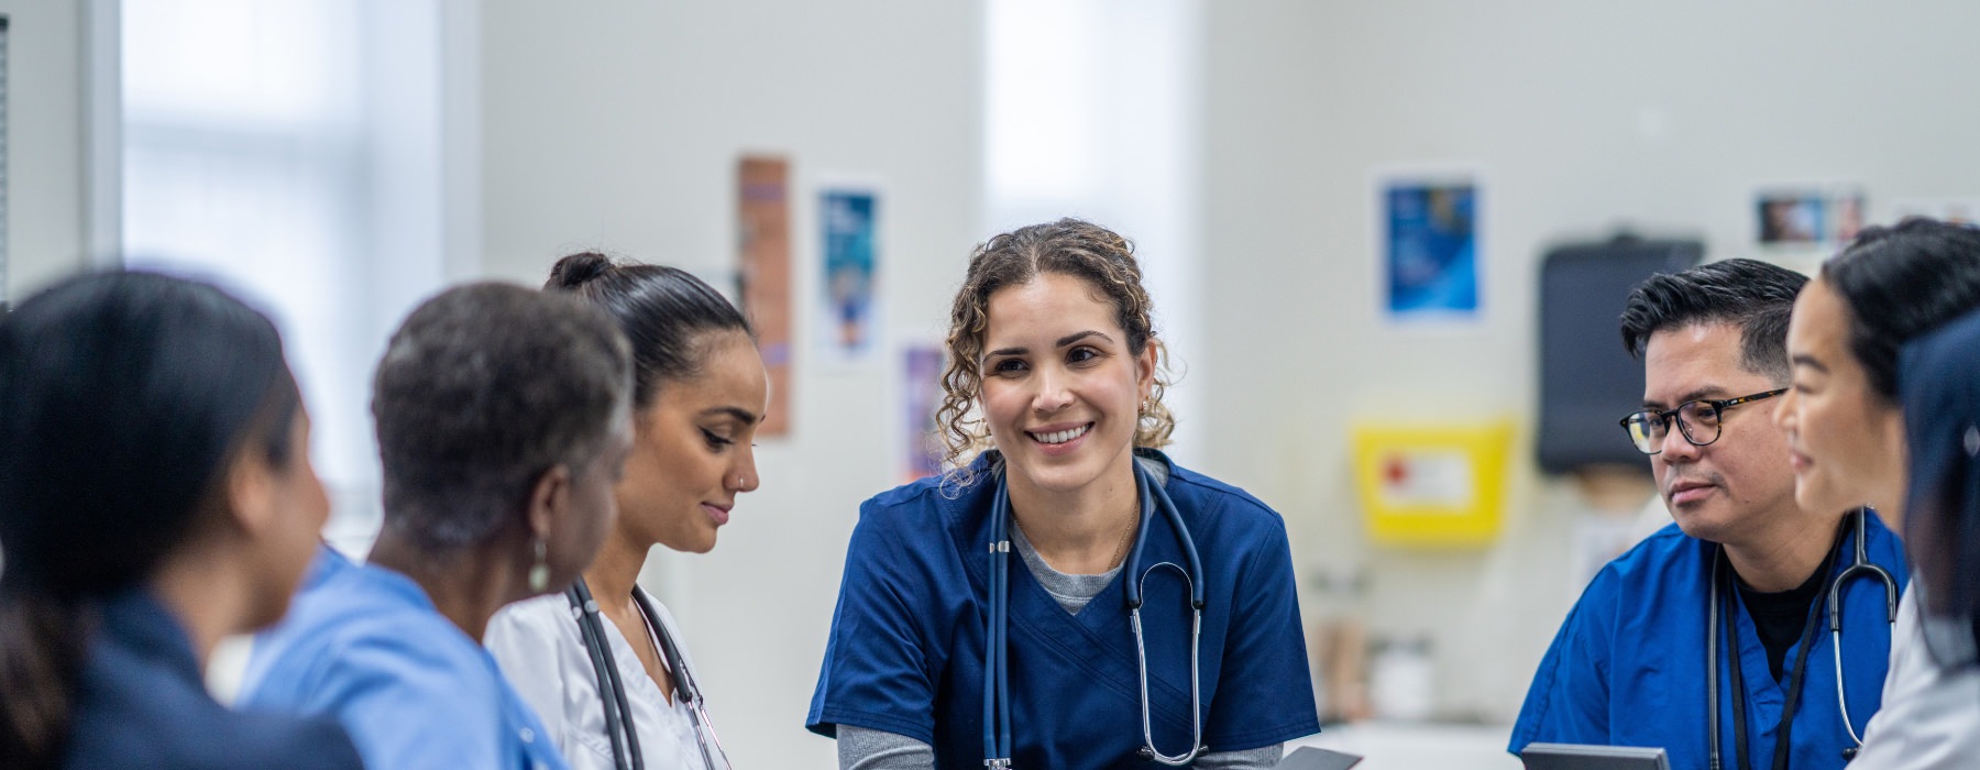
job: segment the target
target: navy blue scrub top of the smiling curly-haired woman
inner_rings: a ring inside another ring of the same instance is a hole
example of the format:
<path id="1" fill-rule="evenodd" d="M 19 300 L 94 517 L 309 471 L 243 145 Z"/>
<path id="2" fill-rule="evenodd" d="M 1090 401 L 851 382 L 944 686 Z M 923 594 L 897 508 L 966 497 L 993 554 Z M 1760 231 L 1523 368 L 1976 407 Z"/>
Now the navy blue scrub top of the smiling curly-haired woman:
<path id="1" fill-rule="evenodd" d="M 1319 732 L 1285 523 L 1239 489 L 1168 465 L 1164 489 L 1204 562 L 1204 742 L 1214 752 Z M 982 768 L 990 453 L 946 495 L 929 477 L 859 507 L 845 578 L 806 726 L 897 732 L 935 746 L 939 768 Z M 1186 564 L 1174 527 L 1148 521 L 1142 568 Z M 1016 558 L 1014 558 L 1016 562 Z M 1016 564 L 1010 570 L 1012 758 L 1026 768 L 1138 768 L 1135 635 L 1121 580 L 1077 616 Z M 1190 742 L 1190 612 L 1176 572 L 1146 580 L 1142 627 L 1154 740 Z"/>

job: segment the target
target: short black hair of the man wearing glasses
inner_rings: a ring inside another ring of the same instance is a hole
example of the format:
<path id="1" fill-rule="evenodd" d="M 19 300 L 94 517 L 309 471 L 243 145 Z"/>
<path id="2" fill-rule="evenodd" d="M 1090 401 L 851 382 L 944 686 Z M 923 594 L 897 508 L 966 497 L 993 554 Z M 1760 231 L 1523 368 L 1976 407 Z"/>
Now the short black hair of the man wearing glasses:
<path id="1" fill-rule="evenodd" d="M 1740 366 L 1788 382 L 1788 317 L 1808 275 L 1758 259 L 1725 259 L 1657 273 L 1630 291 L 1622 311 L 1622 346 L 1637 360 L 1659 331 L 1709 323 L 1740 331 Z"/>

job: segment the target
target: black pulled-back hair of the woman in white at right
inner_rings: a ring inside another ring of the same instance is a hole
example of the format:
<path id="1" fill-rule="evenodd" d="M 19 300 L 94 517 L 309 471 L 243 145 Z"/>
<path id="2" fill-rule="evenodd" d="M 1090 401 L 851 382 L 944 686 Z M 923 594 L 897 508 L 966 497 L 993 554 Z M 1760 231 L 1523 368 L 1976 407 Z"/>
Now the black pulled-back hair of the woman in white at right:
<path id="1" fill-rule="evenodd" d="M 1980 307 L 1980 230 L 1927 218 L 1865 228 L 1822 263 L 1849 307 L 1849 352 L 1885 402 L 1897 402 L 1897 350 Z"/>

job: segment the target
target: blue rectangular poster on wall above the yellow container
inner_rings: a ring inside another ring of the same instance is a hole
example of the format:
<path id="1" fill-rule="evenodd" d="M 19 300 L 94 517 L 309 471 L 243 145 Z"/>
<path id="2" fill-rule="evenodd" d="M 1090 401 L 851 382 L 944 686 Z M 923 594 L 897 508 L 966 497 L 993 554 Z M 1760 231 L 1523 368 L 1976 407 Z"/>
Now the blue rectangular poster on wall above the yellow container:
<path id="1" fill-rule="evenodd" d="M 1471 321 L 1479 311 L 1477 184 L 1382 184 L 1388 315 Z"/>

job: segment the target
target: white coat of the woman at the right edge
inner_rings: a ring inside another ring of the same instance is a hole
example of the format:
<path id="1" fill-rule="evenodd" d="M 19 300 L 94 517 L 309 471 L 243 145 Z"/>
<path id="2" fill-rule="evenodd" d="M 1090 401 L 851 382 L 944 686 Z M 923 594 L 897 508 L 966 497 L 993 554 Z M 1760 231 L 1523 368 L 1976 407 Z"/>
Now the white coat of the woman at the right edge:
<path id="1" fill-rule="evenodd" d="M 1970 770 L 1976 762 L 1980 669 L 1944 669 L 1932 659 L 1919 618 L 1919 592 L 1909 590 L 1891 629 L 1883 709 L 1863 728 L 1863 752 L 1849 762 L 1849 770 Z"/>

